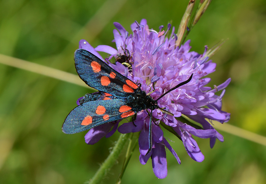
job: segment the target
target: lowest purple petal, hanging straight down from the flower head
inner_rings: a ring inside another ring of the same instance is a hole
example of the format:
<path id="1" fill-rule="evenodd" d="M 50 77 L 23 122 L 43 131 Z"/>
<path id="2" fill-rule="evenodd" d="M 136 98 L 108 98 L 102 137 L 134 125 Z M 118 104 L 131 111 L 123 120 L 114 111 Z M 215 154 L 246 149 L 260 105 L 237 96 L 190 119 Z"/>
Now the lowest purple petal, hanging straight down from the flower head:
<path id="1" fill-rule="evenodd" d="M 159 179 L 167 176 L 166 151 L 163 144 L 155 143 L 152 155 L 153 173 Z"/>

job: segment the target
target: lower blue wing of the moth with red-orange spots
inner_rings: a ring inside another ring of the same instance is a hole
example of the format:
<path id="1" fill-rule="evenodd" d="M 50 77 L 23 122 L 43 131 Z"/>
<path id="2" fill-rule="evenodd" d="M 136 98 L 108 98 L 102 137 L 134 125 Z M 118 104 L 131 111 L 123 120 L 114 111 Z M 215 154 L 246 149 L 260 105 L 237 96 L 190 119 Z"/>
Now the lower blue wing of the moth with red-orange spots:
<path id="1" fill-rule="evenodd" d="M 75 134 L 135 113 L 132 107 L 126 105 L 125 99 L 87 101 L 68 114 L 62 130 L 66 134 Z"/>

